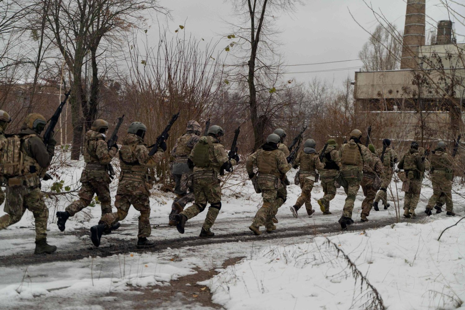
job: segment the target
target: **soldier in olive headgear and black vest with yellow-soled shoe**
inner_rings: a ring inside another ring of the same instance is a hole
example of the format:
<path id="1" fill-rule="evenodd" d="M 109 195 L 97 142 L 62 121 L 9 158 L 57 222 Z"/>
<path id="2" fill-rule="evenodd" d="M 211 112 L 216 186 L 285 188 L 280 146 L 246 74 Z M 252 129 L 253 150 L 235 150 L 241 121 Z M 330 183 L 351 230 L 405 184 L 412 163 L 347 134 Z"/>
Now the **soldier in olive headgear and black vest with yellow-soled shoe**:
<path id="1" fill-rule="evenodd" d="M 329 211 L 329 202 L 336 196 L 334 178 L 336 178 L 339 168 L 342 166 L 341 158 L 339 157 L 339 152 L 337 151 L 338 144 L 336 143 L 336 140 L 329 139 L 327 143 L 328 146 L 326 147 L 325 155 L 323 157 L 323 164 L 325 167 L 318 170 L 321 178 L 321 186 L 323 187 L 323 192 L 325 195 L 318 199 L 317 202 L 323 214 L 331 214 Z M 322 151 L 323 150 L 321 150 L 319 153 L 321 154 Z"/>

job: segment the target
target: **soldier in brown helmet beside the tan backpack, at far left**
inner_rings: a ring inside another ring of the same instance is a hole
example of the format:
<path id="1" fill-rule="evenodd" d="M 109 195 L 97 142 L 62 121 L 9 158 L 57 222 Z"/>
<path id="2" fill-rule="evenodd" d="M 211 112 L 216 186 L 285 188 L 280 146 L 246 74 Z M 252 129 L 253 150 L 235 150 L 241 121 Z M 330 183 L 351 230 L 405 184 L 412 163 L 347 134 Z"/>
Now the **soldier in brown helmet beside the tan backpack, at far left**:
<path id="1" fill-rule="evenodd" d="M 7 214 L 0 217 L 0 230 L 17 223 L 26 209 L 31 211 L 35 220 L 35 254 L 50 254 L 57 249 L 46 241 L 48 209 L 40 191 L 40 177 L 45 175 L 57 143 L 51 137 L 48 145 L 44 144 L 40 133 L 45 125 L 46 120 L 42 115 L 28 114 L 18 135 L 8 138 L 3 149 L 11 158 L 23 158 L 23 162 L 10 163 L 12 165 L 8 167 L 2 165 L 3 176 L 7 178 L 7 199 L 4 206 Z M 10 141 L 13 143 L 10 144 Z M 13 147 L 18 144 L 20 147 Z M 14 175 L 8 175 L 8 172 L 13 172 Z"/>

